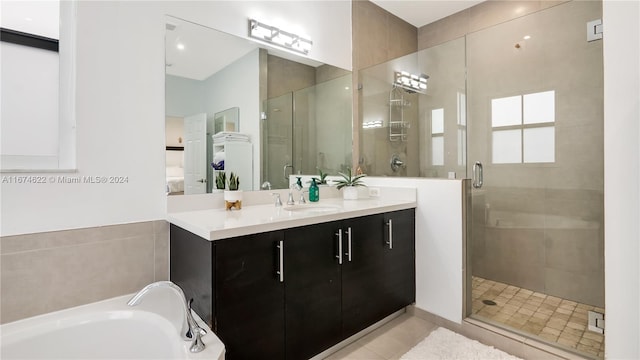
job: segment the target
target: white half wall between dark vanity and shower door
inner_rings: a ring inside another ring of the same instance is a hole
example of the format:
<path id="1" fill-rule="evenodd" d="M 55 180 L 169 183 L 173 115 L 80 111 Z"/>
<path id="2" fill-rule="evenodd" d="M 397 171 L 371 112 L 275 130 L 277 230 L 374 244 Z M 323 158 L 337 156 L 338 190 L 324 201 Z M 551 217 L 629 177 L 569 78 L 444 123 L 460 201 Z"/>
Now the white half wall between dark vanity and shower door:
<path id="1" fill-rule="evenodd" d="M 416 307 L 462 322 L 462 180 L 368 177 L 368 186 L 415 187 Z"/>

